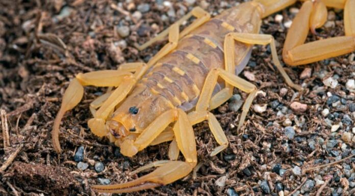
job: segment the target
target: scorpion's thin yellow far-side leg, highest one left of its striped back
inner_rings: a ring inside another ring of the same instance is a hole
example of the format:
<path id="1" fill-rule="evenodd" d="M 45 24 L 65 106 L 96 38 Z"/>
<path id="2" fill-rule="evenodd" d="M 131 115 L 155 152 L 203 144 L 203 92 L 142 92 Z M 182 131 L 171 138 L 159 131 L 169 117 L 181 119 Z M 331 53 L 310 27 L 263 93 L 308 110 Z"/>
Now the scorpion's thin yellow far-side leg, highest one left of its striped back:
<path id="1" fill-rule="evenodd" d="M 189 12 L 185 16 L 181 17 L 174 24 L 176 24 L 177 26 L 180 26 L 184 21 L 188 20 L 191 16 L 195 16 L 197 19 L 195 21 L 193 21 L 189 26 L 187 26 L 185 28 L 185 30 L 183 30 L 181 32 L 179 39 L 184 37 L 185 35 L 190 33 L 192 30 L 196 29 L 196 27 L 205 23 L 206 21 L 208 21 L 211 18 L 210 14 L 208 12 L 206 12 L 205 10 L 203 10 L 200 7 L 195 7 L 191 10 L 191 12 Z M 172 25 L 174 25 L 174 24 L 172 24 Z M 150 39 L 149 41 L 145 42 L 143 45 L 140 45 L 140 46 L 136 45 L 136 47 L 139 50 L 143 50 L 143 49 L 149 47 L 151 44 L 164 39 L 168 35 L 170 28 L 171 28 L 171 26 L 168 29 L 159 33 L 155 38 Z"/>

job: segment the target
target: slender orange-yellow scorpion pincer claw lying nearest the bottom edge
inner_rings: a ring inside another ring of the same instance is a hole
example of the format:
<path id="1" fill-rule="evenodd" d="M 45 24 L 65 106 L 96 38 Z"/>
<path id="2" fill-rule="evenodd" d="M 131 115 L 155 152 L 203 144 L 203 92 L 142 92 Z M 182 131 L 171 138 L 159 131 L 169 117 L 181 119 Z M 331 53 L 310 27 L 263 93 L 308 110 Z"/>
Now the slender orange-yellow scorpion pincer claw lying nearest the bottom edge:
<path id="1" fill-rule="evenodd" d="M 155 188 L 172 183 L 187 176 L 193 169 L 193 165 L 183 161 L 168 161 L 159 166 L 155 171 L 136 180 L 122 184 L 94 185 L 92 189 L 98 192 L 122 193 Z"/>

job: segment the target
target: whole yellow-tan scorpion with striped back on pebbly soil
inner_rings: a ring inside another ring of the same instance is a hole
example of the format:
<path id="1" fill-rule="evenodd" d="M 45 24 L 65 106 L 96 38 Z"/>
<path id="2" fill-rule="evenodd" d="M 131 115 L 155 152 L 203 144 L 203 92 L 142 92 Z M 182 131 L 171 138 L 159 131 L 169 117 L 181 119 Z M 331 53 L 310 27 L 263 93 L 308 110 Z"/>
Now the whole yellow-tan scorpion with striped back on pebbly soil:
<path id="1" fill-rule="evenodd" d="M 355 50 L 355 0 L 302 0 L 284 43 L 286 64 L 298 66 L 336 57 Z M 169 142 L 168 157 L 140 167 L 137 172 L 157 167 L 138 179 L 113 185 L 93 185 L 99 192 L 132 192 L 166 185 L 187 176 L 197 164 L 192 126 L 207 120 L 219 146 L 229 142 L 216 117 L 210 112 L 226 102 L 237 88 L 248 93 L 242 107 L 239 130 L 247 116 L 257 87 L 238 77 L 255 44 L 270 45 L 273 64 L 288 86 L 301 91 L 285 72 L 277 57 L 271 35 L 259 34 L 262 19 L 285 9 L 296 0 L 253 0 L 241 3 L 211 18 L 199 7 L 141 46 L 142 50 L 168 37 L 168 43 L 147 63 L 126 63 L 117 70 L 79 73 L 64 92 L 53 128 L 54 149 L 60 153 L 59 128 L 66 111 L 83 97 L 84 86 L 115 88 L 90 104 L 91 131 L 108 137 L 121 154 L 132 157 L 149 145 Z M 345 36 L 305 43 L 327 19 L 327 7 L 344 9 Z M 179 26 L 196 19 L 182 32 Z M 178 160 L 180 152 L 185 161 Z"/>

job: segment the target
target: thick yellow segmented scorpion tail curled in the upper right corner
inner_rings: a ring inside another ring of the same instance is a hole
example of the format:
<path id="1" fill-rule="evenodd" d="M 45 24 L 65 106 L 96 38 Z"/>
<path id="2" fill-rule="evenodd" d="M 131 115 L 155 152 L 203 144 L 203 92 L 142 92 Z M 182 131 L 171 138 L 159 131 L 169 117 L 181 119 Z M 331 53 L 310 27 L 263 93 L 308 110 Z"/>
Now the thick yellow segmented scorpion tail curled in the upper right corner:
<path id="1" fill-rule="evenodd" d="M 343 8 L 345 36 L 304 43 L 310 23 L 311 26 L 314 25 L 311 21 L 312 13 L 317 13 L 314 9 L 324 8 L 314 7 L 310 1 L 303 3 L 286 36 L 283 48 L 285 63 L 291 66 L 303 65 L 337 57 L 355 50 L 355 0 L 346 0 Z M 324 20 L 322 17 L 324 18 L 326 15 L 322 14 L 318 20 Z"/>

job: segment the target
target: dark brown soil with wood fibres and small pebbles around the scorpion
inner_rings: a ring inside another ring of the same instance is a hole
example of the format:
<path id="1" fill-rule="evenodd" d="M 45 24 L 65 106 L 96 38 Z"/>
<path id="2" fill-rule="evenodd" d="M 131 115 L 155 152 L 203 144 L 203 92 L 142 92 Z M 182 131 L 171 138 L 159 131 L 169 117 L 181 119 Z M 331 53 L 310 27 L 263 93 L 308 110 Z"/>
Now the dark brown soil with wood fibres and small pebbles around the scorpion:
<path id="1" fill-rule="evenodd" d="M 0 136 L 0 195 L 107 195 L 90 185 L 133 180 L 142 176 L 130 175 L 138 167 L 168 159 L 169 144 L 128 158 L 107 139 L 94 136 L 87 126 L 89 103 L 106 89 L 93 87 L 85 88 L 82 102 L 63 119 L 63 153 L 58 155 L 51 131 L 64 90 L 80 72 L 147 62 L 166 41 L 144 51 L 134 45 L 156 36 L 194 6 L 217 15 L 241 2 L 0 1 L 0 129 L 9 130 L 8 139 Z M 300 6 L 263 20 L 261 33 L 274 36 L 279 57 Z M 329 9 L 328 22 L 307 41 L 343 35 L 343 11 Z M 261 91 L 243 133 L 236 134 L 236 125 L 239 99 L 247 94 L 235 90 L 235 100 L 212 111 L 229 139 L 226 150 L 209 156 L 217 144 L 208 123 L 200 123 L 194 126 L 199 161 L 195 173 L 122 195 L 355 195 L 354 52 L 286 68 L 302 92 L 286 85 L 270 53 L 268 46 L 255 46 L 241 74 Z M 294 102 L 306 104 L 301 105 L 305 109 L 294 109 Z M 316 168 L 327 163 L 332 164 Z"/>

